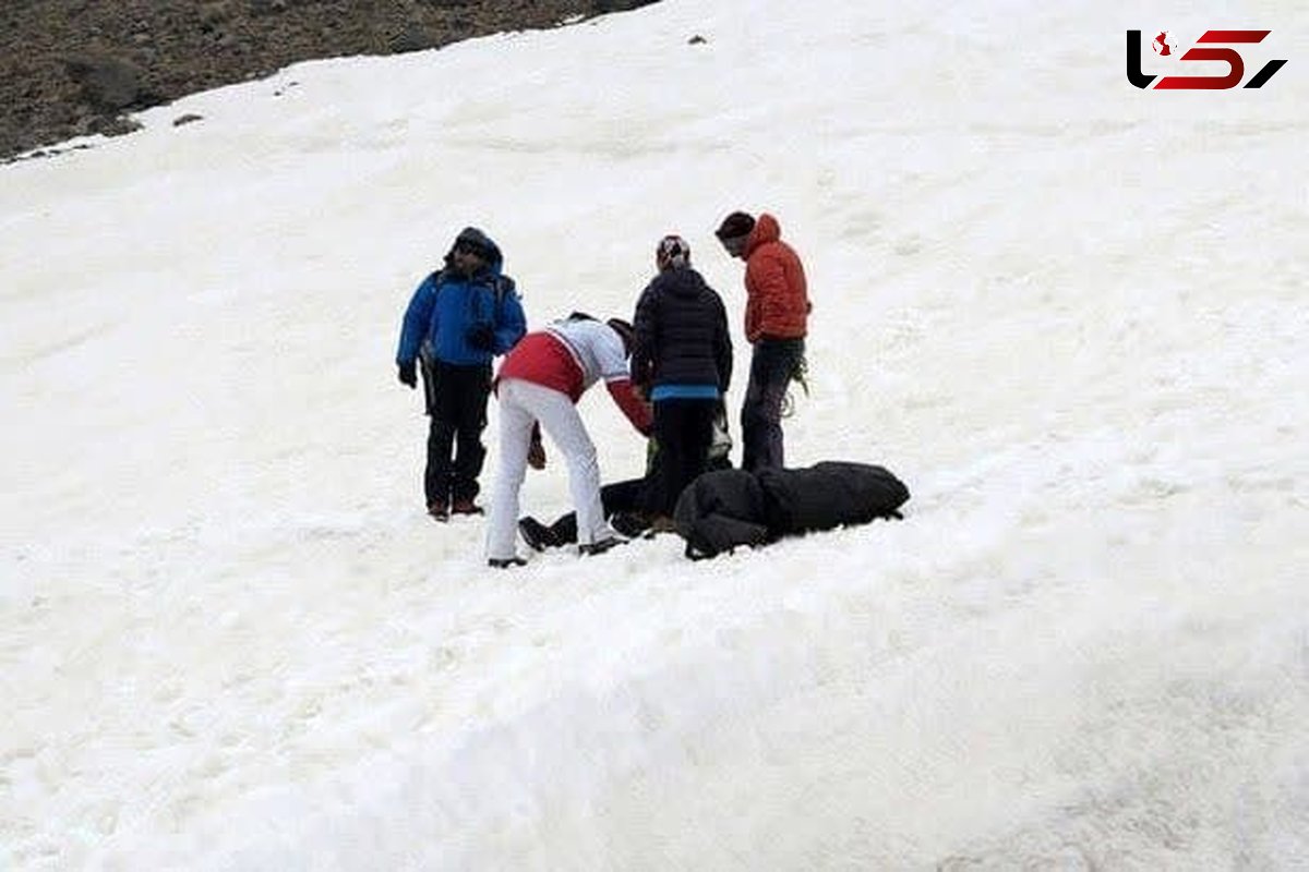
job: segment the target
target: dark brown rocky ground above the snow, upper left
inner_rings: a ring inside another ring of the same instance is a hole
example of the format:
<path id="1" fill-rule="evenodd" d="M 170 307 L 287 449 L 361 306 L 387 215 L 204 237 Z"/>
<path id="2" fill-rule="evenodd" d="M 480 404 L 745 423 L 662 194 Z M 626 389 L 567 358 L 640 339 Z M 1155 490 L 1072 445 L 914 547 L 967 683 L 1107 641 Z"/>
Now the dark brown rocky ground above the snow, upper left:
<path id="1" fill-rule="evenodd" d="M 317 58 L 385 55 L 654 0 L 0 0 L 0 162 Z"/>

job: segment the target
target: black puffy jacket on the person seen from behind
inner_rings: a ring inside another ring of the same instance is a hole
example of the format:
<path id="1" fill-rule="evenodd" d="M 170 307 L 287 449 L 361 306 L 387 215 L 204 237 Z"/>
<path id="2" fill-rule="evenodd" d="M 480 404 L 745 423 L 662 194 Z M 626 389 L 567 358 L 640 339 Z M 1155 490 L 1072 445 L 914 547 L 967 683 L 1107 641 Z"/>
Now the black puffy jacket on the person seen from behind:
<path id="1" fill-rule="evenodd" d="M 657 275 L 636 303 L 632 380 L 660 384 L 732 384 L 732 337 L 723 298 L 690 267 Z"/>

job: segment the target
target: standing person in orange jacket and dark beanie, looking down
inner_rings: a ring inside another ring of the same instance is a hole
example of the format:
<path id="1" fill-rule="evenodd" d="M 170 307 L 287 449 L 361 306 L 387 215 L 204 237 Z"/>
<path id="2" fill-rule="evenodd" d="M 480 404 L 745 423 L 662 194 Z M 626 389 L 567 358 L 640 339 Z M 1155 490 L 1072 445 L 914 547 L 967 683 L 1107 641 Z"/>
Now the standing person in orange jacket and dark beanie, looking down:
<path id="1" fill-rule="evenodd" d="M 787 386 L 804 375 L 809 289 L 796 250 L 767 212 L 758 220 L 733 212 L 715 231 L 723 248 L 745 261 L 745 337 L 753 346 L 750 382 L 741 404 L 741 468 L 784 464 L 781 407 Z"/>

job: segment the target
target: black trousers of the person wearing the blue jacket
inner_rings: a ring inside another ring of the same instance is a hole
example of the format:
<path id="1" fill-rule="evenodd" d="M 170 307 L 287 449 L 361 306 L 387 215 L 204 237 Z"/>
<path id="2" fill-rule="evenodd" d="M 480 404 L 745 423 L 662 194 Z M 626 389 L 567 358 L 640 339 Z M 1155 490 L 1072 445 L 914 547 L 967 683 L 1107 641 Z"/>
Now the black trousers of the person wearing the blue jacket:
<path id="1" fill-rule="evenodd" d="M 491 396 L 491 365 L 457 366 L 435 361 L 423 367 L 427 387 L 427 469 L 423 490 L 427 505 L 473 499 L 480 486 L 487 450 L 482 431 L 487 426 Z"/>

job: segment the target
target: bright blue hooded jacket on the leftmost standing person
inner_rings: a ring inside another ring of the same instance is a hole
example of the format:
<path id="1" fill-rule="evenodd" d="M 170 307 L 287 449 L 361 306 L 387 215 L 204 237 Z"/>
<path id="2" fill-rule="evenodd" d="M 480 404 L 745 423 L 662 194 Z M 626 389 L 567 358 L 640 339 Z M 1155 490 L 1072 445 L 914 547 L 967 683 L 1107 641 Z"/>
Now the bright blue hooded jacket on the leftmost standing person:
<path id="1" fill-rule="evenodd" d="M 522 301 L 513 278 L 500 273 L 499 247 L 484 235 L 483 239 L 493 254 L 486 269 L 471 277 L 461 276 L 449 267 L 446 255 L 446 268 L 419 284 L 404 310 L 397 363 L 412 363 L 419 354 L 431 354 L 457 366 L 484 365 L 522 339 L 528 331 Z M 495 335 L 491 350 L 469 344 L 469 333 L 479 326 L 490 327 Z"/>

